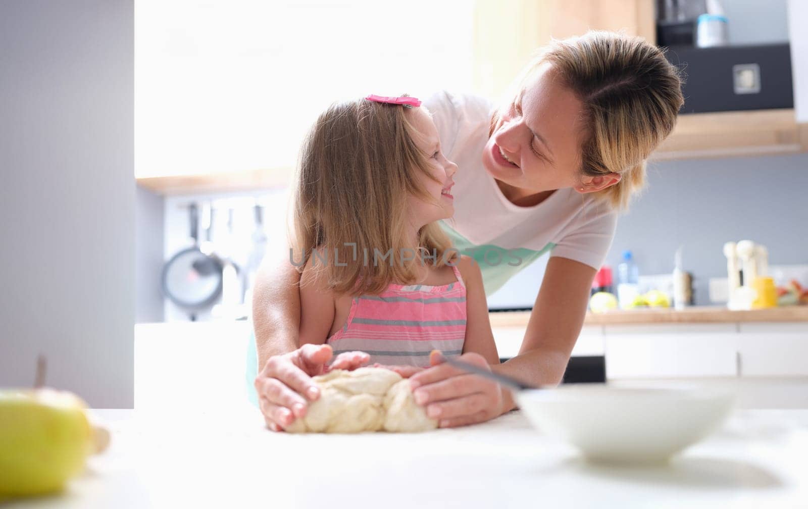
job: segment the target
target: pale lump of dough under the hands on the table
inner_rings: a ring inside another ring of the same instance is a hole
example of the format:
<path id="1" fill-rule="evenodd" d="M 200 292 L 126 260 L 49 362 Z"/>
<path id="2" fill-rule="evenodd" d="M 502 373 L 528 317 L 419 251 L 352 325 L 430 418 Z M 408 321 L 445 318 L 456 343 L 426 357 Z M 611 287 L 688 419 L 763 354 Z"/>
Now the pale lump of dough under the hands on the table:
<path id="1" fill-rule="evenodd" d="M 415 404 L 410 384 L 385 368 L 335 369 L 312 379 L 320 398 L 302 419 L 286 428 L 290 433 L 360 433 L 362 431 L 427 431 L 435 419 Z"/>

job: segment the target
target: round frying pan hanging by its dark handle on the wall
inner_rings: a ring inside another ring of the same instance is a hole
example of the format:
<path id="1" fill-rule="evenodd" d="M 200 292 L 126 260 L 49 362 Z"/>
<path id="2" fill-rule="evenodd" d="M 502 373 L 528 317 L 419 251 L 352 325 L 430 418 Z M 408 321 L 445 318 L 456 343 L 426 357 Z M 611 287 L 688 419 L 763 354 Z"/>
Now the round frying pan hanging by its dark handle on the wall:
<path id="1" fill-rule="evenodd" d="M 190 312 L 191 320 L 221 295 L 221 262 L 199 246 L 199 208 L 188 208 L 193 245 L 179 251 L 162 270 L 162 291 L 175 305 Z M 208 237 L 210 229 L 207 230 Z M 210 239 L 208 238 L 208 241 Z"/>

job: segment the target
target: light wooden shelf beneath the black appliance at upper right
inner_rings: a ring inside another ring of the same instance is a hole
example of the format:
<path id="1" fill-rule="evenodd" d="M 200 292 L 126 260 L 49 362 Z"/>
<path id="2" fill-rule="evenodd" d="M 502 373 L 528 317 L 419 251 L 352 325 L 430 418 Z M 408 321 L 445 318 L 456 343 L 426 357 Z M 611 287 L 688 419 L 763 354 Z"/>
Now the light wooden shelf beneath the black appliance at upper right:
<path id="1" fill-rule="evenodd" d="M 793 109 L 680 115 L 651 160 L 797 154 L 806 150 L 806 134 Z"/>

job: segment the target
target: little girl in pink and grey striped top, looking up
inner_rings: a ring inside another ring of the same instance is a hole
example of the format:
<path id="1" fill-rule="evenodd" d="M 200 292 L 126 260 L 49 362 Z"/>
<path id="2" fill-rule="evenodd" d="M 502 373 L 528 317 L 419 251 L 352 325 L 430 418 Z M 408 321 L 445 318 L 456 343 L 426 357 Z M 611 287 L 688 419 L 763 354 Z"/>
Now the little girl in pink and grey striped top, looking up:
<path id="1" fill-rule="evenodd" d="M 302 271 L 300 343 L 377 364 L 428 367 L 432 350 L 499 364 L 480 269 L 436 223 L 454 213 L 457 165 L 420 104 L 335 104 L 309 133 L 290 257 Z"/>

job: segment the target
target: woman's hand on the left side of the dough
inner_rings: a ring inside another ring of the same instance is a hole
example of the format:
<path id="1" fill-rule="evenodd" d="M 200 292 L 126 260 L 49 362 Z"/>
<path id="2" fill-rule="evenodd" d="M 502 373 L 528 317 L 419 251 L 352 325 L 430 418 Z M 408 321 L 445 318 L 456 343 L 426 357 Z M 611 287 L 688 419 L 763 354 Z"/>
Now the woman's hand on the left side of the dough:
<path id="1" fill-rule="evenodd" d="M 269 429 L 281 431 L 295 419 L 305 416 L 309 402 L 317 401 L 320 397 L 320 389 L 311 380 L 312 376 L 337 367 L 358 368 L 369 360 L 364 352 L 346 352 L 338 355 L 334 364 L 327 366 L 332 355 L 333 351 L 328 345 L 305 344 L 297 350 L 273 355 L 267 360 L 255 377 L 255 391 Z"/>

